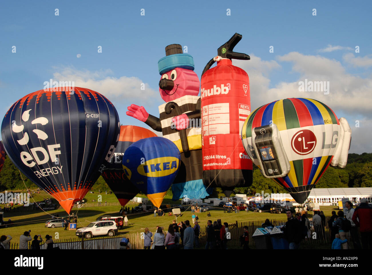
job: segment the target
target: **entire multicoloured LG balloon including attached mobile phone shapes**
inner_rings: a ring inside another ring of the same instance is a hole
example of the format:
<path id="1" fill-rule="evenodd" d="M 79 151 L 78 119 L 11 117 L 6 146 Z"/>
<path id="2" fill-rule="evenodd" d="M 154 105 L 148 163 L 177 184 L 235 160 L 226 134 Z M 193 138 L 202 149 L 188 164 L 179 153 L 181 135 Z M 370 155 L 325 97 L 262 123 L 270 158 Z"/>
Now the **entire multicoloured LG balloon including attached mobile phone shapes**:
<path id="1" fill-rule="evenodd" d="M 242 139 L 262 174 L 303 203 L 328 165 L 346 166 L 351 129 L 322 102 L 287 98 L 256 109 Z"/>

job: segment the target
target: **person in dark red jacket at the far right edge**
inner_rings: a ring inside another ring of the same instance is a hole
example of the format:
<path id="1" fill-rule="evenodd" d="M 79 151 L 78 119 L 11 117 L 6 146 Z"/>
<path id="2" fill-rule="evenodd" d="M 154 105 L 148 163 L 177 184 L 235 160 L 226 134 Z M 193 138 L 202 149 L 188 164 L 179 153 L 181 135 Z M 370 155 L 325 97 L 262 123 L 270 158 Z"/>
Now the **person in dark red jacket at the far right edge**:
<path id="1" fill-rule="evenodd" d="M 360 205 L 355 208 L 352 220 L 360 228 L 363 249 L 372 249 L 372 207 L 368 205 L 366 198 L 363 197 L 360 200 Z"/>

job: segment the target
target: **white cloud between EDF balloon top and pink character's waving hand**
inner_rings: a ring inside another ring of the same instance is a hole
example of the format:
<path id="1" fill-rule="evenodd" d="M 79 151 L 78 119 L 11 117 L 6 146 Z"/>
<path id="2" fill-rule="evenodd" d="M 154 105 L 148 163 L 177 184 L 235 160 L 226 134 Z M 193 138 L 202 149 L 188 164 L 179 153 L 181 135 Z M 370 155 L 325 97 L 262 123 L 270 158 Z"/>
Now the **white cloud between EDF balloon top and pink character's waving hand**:
<path id="1" fill-rule="evenodd" d="M 113 72 L 109 69 L 91 72 L 89 70 L 77 70 L 74 67 L 65 67 L 53 74 L 53 81 L 74 81 L 76 87 L 99 92 L 115 105 L 128 104 L 129 98 L 138 102 L 138 104 L 150 103 L 158 98 L 158 92 L 150 88 L 148 83 L 144 83 L 143 80 L 134 76 L 115 78 L 110 76 L 112 74 Z M 141 90 L 142 83 L 145 85 L 145 90 Z"/>

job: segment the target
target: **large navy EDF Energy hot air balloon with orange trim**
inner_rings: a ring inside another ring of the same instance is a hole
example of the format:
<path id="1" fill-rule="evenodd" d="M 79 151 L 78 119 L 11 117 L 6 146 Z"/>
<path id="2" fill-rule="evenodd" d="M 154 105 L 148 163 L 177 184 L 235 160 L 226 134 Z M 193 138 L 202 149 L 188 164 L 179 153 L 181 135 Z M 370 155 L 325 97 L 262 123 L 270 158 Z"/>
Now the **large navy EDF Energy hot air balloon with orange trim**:
<path id="1" fill-rule="evenodd" d="M 26 95 L 10 107 L 1 124 L 10 159 L 67 213 L 102 173 L 119 131 L 112 103 L 78 87 Z"/>

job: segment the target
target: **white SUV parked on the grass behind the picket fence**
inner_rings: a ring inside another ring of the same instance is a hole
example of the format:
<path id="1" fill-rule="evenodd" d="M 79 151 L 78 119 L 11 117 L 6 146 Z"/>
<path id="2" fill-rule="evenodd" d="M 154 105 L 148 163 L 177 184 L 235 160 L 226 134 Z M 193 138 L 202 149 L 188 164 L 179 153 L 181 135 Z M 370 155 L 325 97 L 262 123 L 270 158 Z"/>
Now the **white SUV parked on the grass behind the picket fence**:
<path id="1" fill-rule="evenodd" d="M 76 236 L 79 238 L 85 237 L 87 239 L 102 235 L 112 237 L 115 233 L 118 233 L 118 227 L 115 221 L 95 221 L 91 222 L 87 227 L 76 230 Z"/>

